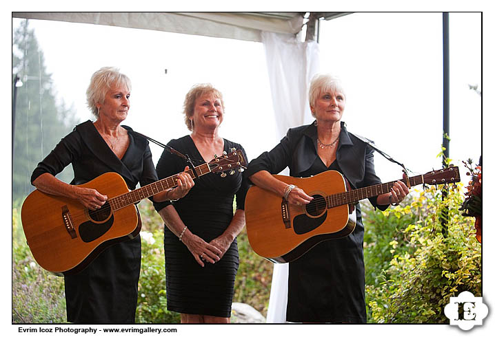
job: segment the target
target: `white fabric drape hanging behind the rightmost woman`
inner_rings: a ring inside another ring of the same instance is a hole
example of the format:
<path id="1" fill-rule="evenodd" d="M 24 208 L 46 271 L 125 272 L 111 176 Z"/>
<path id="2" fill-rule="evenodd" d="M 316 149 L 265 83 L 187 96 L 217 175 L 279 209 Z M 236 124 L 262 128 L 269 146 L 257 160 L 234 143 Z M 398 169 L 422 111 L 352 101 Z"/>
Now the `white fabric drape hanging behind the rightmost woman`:
<path id="1" fill-rule="evenodd" d="M 293 34 L 262 32 L 261 39 L 270 78 L 276 133 L 281 139 L 287 129 L 314 120 L 307 91 L 311 78 L 319 71 L 319 46 L 314 41 L 298 41 Z M 282 174 L 287 174 L 287 170 Z M 288 263 L 274 264 L 267 323 L 285 323 L 288 275 Z"/>

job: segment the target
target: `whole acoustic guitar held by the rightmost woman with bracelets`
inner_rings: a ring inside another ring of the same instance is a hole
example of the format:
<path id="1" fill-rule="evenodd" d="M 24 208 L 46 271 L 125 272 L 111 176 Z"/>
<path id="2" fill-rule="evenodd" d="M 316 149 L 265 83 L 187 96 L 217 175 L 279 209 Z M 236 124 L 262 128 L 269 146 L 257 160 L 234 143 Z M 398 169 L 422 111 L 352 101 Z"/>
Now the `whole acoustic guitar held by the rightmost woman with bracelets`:
<path id="1" fill-rule="evenodd" d="M 387 182 L 347 191 L 346 181 L 337 171 L 325 171 L 307 178 L 274 177 L 299 186 L 314 197 L 310 204 L 297 206 L 258 186 L 247 191 L 247 238 L 256 254 L 274 263 L 294 261 L 321 241 L 350 235 L 356 226 L 355 221 L 349 221 L 350 205 L 390 192 L 394 185 L 394 182 Z M 458 167 L 451 166 L 402 181 L 407 186 L 416 186 L 456 183 L 461 179 Z"/>

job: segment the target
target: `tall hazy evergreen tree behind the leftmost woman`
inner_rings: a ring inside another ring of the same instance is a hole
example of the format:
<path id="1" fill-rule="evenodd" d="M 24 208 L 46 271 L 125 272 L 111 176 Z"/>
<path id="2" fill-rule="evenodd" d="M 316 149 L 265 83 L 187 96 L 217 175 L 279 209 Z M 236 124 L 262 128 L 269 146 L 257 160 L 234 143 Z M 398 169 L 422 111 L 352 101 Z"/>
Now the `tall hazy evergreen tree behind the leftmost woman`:
<path id="1" fill-rule="evenodd" d="M 12 121 L 12 203 L 33 191 L 32 171 L 77 124 L 74 109 L 63 102 L 57 105 L 51 74 L 46 72 L 43 52 L 28 25 L 28 20 L 22 21 L 12 36 L 12 83 L 16 75 L 23 83 L 17 87 Z M 71 166 L 57 175 L 65 182 L 72 176 Z"/>

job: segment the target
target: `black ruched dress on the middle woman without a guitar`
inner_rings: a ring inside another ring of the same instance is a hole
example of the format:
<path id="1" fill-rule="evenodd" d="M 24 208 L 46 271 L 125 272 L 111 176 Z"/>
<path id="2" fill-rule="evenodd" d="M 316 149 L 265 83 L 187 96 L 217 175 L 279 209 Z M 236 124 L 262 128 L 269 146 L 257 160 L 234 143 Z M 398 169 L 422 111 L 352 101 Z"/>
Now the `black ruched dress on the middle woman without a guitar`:
<path id="1" fill-rule="evenodd" d="M 240 144 L 224 139 L 224 151 Z M 205 163 L 189 135 L 171 140 L 169 146 L 188 154 L 194 164 Z M 221 153 L 219 153 L 221 154 Z M 208 160 L 209 158 L 207 158 Z M 183 171 L 186 163 L 181 157 L 163 151 L 156 165 L 159 178 L 169 177 Z M 225 178 L 209 173 L 194 180 L 194 186 L 173 206 L 185 226 L 206 242 L 219 237 L 230 225 L 233 217 L 233 200 L 236 208 L 244 209 L 247 181 L 235 171 Z M 156 203 L 156 210 L 170 205 L 169 202 Z M 234 281 L 239 267 L 239 252 L 234 239 L 230 248 L 216 263 L 205 263 L 201 267 L 188 248 L 165 226 L 165 275 L 167 283 L 167 309 L 183 314 L 201 314 L 230 317 Z"/>

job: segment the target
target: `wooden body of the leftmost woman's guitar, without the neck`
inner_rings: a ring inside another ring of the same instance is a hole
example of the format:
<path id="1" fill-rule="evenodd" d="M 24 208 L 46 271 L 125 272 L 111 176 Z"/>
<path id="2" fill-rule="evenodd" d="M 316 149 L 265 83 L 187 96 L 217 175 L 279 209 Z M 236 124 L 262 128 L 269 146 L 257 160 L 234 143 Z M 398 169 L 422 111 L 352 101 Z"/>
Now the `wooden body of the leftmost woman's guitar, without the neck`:
<path id="1" fill-rule="evenodd" d="M 128 193 L 117 173 L 104 173 L 86 184 L 108 198 Z M 105 207 L 107 206 L 107 207 Z M 74 274 L 112 243 L 133 239 L 141 230 L 134 204 L 112 211 L 108 204 L 88 210 L 74 199 L 33 191 L 23 203 L 21 219 L 34 259 L 57 274 Z"/>

